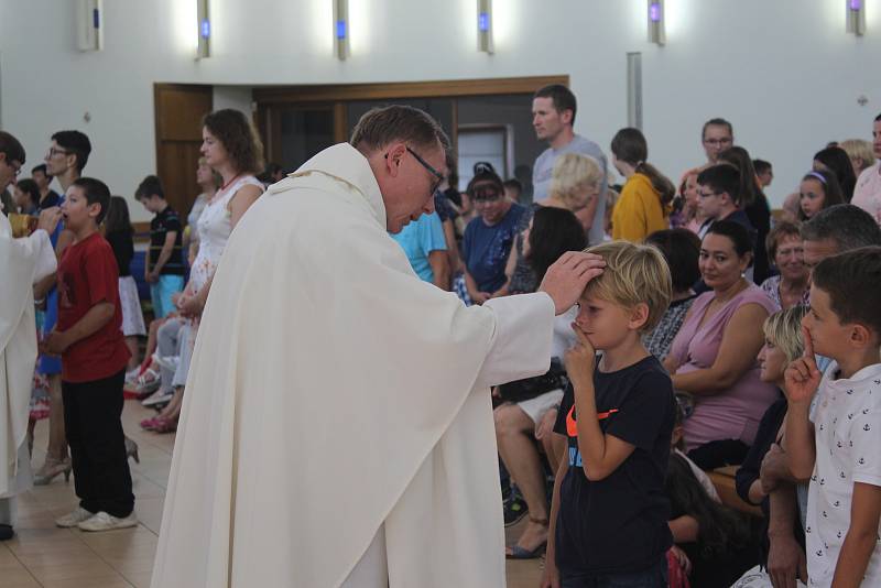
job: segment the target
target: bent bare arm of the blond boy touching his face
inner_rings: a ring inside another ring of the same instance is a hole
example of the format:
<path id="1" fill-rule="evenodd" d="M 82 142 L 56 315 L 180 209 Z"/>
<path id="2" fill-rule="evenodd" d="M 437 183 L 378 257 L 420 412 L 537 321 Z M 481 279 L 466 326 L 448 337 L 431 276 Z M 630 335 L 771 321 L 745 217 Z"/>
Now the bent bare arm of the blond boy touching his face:
<path id="1" fill-rule="evenodd" d="M 573 326 L 578 342 L 566 351 L 566 374 L 575 391 L 575 410 L 578 414 L 578 450 L 585 476 L 599 481 L 623 464 L 635 449 L 614 435 L 606 435 L 599 427 L 597 401 L 594 395 L 594 362 L 596 351 L 584 331 Z"/>

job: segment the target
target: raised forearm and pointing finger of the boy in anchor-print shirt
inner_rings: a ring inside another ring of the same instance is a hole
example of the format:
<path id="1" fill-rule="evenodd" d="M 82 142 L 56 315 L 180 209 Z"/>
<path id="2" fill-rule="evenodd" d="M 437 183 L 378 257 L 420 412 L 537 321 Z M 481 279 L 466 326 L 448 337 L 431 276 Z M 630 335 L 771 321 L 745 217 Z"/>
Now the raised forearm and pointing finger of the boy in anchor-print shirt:
<path id="1" fill-rule="evenodd" d="M 814 361 L 814 341 L 811 333 L 802 327 L 805 350 L 785 372 L 786 399 L 786 451 L 790 454 L 790 470 L 796 479 L 805 479 L 814 471 L 816 446 L 814 427 L 811 424 L 811 400 L 819 386 L 822 374 Z"/>

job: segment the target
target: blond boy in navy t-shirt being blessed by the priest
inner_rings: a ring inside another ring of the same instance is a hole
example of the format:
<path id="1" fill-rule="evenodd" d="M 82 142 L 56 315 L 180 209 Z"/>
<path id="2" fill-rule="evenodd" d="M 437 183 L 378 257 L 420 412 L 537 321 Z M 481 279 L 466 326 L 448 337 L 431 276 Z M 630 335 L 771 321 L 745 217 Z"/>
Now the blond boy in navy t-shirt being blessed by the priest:
<path id="1" fill-rule="evenodd" d="M 554 484 L 542 586 L 661 588 L 673 544 L 664 476 L 675 398 L 641 335 L 666 311 L 672 279 L 651 246 L 612 241 L 587 251 L 606 269 L 581 295 L 578 344 L 566 353 L 572 383 L 554 431 L 566 436 L 568 455 Z"/>

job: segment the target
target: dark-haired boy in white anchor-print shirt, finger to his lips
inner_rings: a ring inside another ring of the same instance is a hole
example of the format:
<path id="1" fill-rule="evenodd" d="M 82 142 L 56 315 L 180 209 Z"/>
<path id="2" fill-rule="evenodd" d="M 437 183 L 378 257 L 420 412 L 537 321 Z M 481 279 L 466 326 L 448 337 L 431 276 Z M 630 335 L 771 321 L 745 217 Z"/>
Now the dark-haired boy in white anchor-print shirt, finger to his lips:
<path id="1" fill-rule="evenodd" d="M 827 258 L 812 281 L 804 355 L 785 374 L 790 468 L 811 477 L 809 585 L 881 586 L 881 247 Z M 833 359 L 823 374 L 815 352 Z"/>

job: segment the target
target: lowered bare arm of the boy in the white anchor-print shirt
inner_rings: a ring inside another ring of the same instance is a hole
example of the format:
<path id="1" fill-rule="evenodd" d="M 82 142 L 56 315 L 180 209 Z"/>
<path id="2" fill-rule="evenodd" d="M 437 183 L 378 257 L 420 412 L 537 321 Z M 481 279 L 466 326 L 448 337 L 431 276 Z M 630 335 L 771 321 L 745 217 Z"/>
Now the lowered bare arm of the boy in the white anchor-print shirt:
<path id="1" fill-rule="evenodd" d="M 878 542 L 881 486 L 855 482 L 850 527 L 838 554 L 833 588 L 858 588 Z"/>

